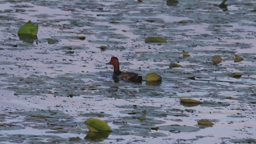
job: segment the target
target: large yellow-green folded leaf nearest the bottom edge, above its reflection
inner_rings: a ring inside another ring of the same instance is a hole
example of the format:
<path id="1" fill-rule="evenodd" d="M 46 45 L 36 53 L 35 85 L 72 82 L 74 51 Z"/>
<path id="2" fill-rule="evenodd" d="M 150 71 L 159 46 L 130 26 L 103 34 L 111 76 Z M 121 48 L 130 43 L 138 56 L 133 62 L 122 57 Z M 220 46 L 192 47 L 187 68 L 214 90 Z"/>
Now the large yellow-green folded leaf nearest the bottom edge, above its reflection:
<path id="1" fill-rule="evenodd" d="M 112 132 L 112 130 L 109 128 L 106 122 L 97 118 L 90 118 L 89 120 L 86 120 L 84 124 L 86 124 L 89 131 L 92 131 L 92 132 L 100 132 L 100 131 Z"/>

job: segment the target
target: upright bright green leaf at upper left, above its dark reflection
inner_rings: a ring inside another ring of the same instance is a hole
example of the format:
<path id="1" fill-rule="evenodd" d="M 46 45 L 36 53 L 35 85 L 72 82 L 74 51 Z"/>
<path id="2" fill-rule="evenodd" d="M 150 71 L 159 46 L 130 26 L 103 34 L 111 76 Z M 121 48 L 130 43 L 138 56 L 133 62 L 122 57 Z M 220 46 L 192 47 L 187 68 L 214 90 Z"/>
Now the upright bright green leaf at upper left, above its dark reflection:
<path id="1" fill-rule="evenodd" d="M 20 27 L 18 30 L 18 35 L 28 34 L 32 36 L 36 36 L 38 32 L 38 24 L 32 24 L 31 20 L 29 20 L 26 24 Z"/>

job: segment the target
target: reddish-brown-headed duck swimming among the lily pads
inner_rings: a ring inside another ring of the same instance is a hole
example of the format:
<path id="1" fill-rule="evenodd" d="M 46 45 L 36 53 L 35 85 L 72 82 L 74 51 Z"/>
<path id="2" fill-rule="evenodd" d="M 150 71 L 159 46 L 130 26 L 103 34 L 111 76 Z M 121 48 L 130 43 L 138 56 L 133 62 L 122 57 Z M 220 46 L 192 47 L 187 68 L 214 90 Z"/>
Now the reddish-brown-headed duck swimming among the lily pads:
<path id="1" fill-rule="evenodd" d="M 112 57 L 110 62 L 106 64 L 112 64 L 114 66 L 113 79 L 116 80 L 124 80 L 125 82 L 134 82 L 134 83 L 142 83 L 142 76 L 134 72 L 121 72 L 119 69 L 119 61 L 117 57 Z"/>

